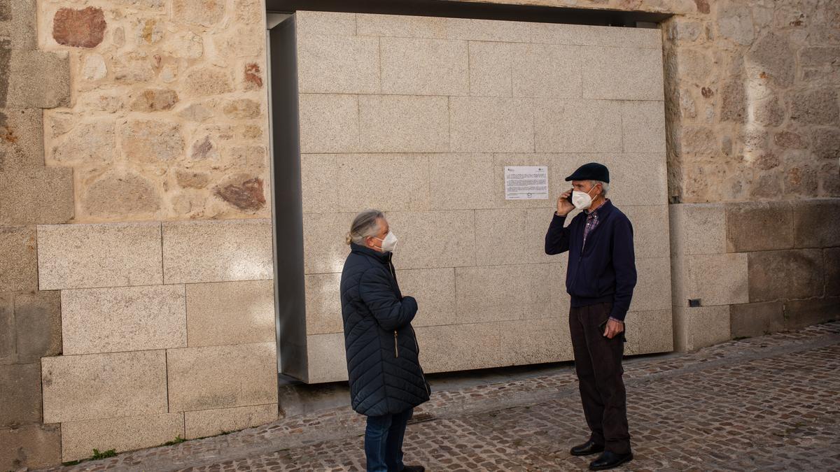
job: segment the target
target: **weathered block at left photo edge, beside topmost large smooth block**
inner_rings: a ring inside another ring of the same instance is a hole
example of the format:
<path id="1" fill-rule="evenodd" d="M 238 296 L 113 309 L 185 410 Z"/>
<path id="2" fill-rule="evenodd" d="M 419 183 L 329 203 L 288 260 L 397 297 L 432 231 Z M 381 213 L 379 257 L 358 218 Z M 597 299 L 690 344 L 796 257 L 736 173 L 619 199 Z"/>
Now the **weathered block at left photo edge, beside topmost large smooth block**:
<path id="1" fill-rule="evenodd" d="M 0 226 L 0 292 L 37 289 L 36 248 L 34 228 Z"/>

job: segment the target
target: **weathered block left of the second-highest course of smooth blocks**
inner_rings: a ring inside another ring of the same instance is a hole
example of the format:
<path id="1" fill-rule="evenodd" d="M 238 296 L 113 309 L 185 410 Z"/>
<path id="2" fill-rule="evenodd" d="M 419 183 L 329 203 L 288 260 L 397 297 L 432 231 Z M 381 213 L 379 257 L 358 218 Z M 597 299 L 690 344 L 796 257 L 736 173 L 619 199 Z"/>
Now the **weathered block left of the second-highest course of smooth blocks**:
<path id="1" fill-rule="evenodd" d="M 18 293 L 14 297 L 18 362 L 38 362 L 61 354 L 59 291 Z"/>

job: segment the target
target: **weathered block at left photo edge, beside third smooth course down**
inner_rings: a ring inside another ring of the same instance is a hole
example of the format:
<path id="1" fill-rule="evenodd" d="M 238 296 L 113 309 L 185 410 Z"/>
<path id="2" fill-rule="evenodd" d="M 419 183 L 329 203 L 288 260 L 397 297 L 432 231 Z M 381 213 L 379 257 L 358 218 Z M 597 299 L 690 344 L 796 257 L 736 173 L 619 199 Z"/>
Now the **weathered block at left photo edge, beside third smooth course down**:
<path id="1" fill-rule="evenodd" d="M 41 421 L 41 366 L 0 365 L 0 427 Z"/>

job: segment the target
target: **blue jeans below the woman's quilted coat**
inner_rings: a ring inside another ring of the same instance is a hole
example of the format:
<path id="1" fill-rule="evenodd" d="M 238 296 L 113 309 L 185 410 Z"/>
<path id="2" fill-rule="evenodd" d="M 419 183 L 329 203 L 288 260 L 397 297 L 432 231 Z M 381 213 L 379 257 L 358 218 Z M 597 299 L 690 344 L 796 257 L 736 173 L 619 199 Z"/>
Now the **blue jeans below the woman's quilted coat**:
<path id="1" fill-rule="evenodd" d="M 365 429 L 365 456 L 368 472 L 399 472 L 402 464 L 402 438 L 406 435 L 413 408 L 396 415 L 368 417 Z"/>

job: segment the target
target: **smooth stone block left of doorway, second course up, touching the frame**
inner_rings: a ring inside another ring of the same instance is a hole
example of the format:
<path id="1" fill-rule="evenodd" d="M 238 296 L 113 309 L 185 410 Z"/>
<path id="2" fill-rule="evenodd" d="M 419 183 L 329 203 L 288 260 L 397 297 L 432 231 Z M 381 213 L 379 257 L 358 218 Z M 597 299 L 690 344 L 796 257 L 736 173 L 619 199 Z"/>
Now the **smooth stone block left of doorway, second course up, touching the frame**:
<path id="1" fill-rule="evenodd" d="M 167 349 L 171 412 L 277 401 L 276 344 Z"/>

